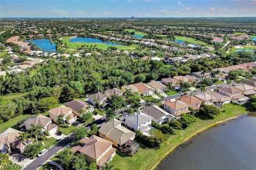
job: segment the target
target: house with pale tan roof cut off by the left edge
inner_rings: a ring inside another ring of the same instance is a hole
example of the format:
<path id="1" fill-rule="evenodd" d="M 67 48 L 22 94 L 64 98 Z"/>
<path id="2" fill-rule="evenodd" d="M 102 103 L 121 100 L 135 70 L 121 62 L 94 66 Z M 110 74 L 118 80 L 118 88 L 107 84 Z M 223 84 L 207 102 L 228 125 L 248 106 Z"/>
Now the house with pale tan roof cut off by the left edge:
<path id="1" fill-rule="evenodd" d="M 26 148 L 26 145 L 31 144 L 32 141 L 28 139 L 26 142 L 19 142 L 17 139 L 22 133 L 21 131 L 15 130 L 13 128 L 8 128 L 4 132 L 0 133 L 0 152 L 12 152 L 12 149 L 17 150 L 18 152 L 23 152 Z"/>

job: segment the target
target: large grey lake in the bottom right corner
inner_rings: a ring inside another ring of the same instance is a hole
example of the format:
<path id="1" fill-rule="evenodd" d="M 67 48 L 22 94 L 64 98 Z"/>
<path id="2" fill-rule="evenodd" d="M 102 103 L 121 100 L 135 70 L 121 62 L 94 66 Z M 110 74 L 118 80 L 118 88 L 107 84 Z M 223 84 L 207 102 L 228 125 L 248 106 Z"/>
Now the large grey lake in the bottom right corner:
<path id="1" fill-rule="evenodd" d="M 251 113 L 197 135 L 162 169 L 255 170 L 255 167 L 256 113 Z"/>

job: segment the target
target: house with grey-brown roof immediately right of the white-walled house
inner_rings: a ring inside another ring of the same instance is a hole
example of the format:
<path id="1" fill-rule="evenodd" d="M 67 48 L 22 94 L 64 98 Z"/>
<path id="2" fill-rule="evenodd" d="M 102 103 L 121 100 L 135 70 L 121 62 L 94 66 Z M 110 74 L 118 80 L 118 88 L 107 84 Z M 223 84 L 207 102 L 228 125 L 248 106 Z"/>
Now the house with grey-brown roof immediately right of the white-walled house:
<path id="1" fill-rule="evenodd" d="M 141 112 L 152 117 L 153 121 L 158 124 L 162 124 L 174 118 L 174 116 L 170 115 L 155 104 L 151 104 L 149 107 L 144 107 Z"/>

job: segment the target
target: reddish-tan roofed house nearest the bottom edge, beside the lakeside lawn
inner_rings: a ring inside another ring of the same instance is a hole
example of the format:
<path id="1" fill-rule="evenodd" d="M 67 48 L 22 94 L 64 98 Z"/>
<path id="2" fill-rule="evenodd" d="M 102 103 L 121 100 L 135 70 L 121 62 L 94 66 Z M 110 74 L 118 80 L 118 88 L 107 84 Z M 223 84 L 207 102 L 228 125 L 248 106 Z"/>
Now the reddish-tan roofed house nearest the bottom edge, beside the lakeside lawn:
<path id="1" fill-rule="evenodd" d="M 102 167 L 116 155 L 116 149 L 112 144 L 108 140 L 92 135 L 90 138 L 81 139 L 77 146 L 71 148 L 71 151 L 84 155 L 86 162 Z"/>

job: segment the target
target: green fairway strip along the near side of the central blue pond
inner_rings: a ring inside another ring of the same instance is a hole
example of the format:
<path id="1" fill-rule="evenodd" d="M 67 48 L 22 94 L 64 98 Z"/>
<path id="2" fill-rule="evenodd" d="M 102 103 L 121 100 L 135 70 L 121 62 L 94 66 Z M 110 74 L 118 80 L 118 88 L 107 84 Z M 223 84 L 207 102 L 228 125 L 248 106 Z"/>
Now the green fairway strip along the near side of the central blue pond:
<path id="1" fill-rule="evenodd" d="M 62 42 L 67 44 L 67 48 L 71 48 L 71 49 L 77 49 L 78 47 L 81 47 L 82 45 L 87 45 L 87 46 L 94 46 L 96 45 L 97 48 L 101 48 L 102 50 L 107 50 L 107 48 L 109 47 L 106 44 L 102 44 L 102 43 L 70 43 L 69 39 L 71 37 L 62 37 Z M 130 46 L 111 46 L 111 47 L 116 47 L 117 49 L 121 50 L 134 50 L 136 48 L 137 45 L 130 45 Z"/>

